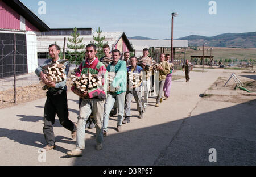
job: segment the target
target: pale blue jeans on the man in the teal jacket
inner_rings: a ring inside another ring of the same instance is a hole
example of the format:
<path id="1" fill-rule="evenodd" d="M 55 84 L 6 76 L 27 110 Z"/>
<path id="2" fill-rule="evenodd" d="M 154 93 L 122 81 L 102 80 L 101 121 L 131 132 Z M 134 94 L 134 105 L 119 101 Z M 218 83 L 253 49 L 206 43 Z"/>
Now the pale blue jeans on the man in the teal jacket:
<path id="1" fill-rule="evenodd" d="M 115 101 L 117 101 L 118 115 L 117 115 L 117 126 L 122 125 L 123 113 L 125 112 L 125 92 L 122 94 L 108 94 L 106 99 L 105 111 L 103 116 L 103 130 L 108 131 L 109 124 L 109 113 L 114 106 Z"/>

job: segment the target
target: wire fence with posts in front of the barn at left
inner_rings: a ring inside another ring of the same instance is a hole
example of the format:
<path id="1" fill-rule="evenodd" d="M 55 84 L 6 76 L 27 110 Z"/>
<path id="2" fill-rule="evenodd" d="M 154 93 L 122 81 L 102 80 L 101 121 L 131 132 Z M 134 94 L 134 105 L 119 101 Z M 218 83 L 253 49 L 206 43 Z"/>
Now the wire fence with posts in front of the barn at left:
<path id="1" fill-rule="evenodd" d="M 7 35 L 10 39 L 0 36 L 0 108 L 43 98 L 46 95 L 35 69 L 49 58 L 48 46 L 27 42 L 24 36 L 23 39 L 22 35 L 17 34 Z M 38 48 L 44 52 L 37 52 Z M 60 59 L 79 58 L 76 57 L 77 54 L 67 52 L 61 52 L 59 56 Z M 80 63 L 80 60 L 69 62 L 69 71 L 72 72 Z M 68 88 L 71 87 L 69 80 L 68 77 Z"/>

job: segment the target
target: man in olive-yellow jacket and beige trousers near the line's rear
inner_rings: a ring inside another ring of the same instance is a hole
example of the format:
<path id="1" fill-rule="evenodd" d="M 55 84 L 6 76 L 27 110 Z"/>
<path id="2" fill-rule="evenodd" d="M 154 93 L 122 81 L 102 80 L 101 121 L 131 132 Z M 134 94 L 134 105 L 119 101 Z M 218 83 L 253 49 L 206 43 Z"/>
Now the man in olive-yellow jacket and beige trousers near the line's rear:
<path id="1" fill-rule="evenodd" d="M 159 102 L 163 95 L 163 87 L 164 87 L 164 82 L 166 81 L 166 75 L 170 73 L 170 65 L 167 61 L 164 60 L 164 58 L 165 58 L 164 53 L 161 53 L 160 54 L 160 65 L 158 66 L 159 92 L 158 92 L 158 97 L 156 98 L 156 104 L 155 104 L 156 107 L 159 107 Z"/>

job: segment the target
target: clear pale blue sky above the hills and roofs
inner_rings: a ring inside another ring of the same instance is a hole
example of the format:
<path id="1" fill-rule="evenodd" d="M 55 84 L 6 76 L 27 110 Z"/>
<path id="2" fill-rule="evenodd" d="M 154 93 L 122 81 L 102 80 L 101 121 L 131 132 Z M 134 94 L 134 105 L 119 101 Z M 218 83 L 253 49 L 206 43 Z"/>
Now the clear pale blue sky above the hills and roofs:
<path id="1" fill-rule="evenodd" d="M 256 0 L 215 0 L 210 5 L 210 0 L 44 0 L 45 6 L 39 0 L 20 2 L 50 28 L 100 27 L 127 37 L 171 39 L 171 13 L 178 12 L 174 39 L 256 31 Z"/>

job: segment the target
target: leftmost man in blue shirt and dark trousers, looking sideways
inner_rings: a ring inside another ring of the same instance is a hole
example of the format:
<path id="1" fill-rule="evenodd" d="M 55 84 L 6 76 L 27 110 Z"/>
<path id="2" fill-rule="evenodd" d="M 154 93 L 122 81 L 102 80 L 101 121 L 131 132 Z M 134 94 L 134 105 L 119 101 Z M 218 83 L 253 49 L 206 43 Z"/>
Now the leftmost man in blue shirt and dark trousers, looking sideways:
<path id="1" fill-rule="evenodd" d="M 59 83 L 49 81 L 47 75 L 43 72 L 43 66 L 47 66 L 51 62 L 60 61 L 59 58 L 60 48 L 56 44 L 49 45 L 49 56 L 42 66 L 39 66 L 35 73 L 40 77 L 42 82 L 48 86 L 48 91 L 46 92 L 46 103 L 44 104 L 44 127 L 43 133 L 46 139 L 47 145 L 44 146 L 44 150 L 48 151 L 55 148 L 55 136 L 53 132 L 53 124 L 55 122 L 55 115 L 59 117 L 60 124 L 66 129 L 71 131 L 72 139 L 76 137 L 76 123 L 72 123 L 68 119 L 68 99 L 67 99 L 67 86 L 66 79 Z M 64 62 L 65 75 L 68 75 L 68 64 Z"/>

